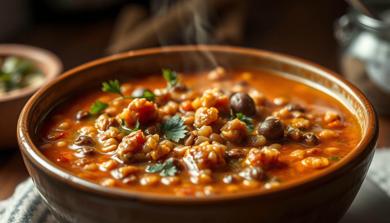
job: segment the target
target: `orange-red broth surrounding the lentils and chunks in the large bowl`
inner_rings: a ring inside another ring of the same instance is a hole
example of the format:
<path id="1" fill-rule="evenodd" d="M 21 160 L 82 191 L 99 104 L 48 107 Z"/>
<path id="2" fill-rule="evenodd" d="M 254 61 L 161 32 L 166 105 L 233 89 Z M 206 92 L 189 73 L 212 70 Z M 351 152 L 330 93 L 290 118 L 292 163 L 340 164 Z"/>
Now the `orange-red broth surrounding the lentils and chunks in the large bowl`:
<path id="1" fill-rule="evenodd" d="M 254 124 L 254 131 L 248 133 L 249 135 L 258 135 L 258 126 L 266 117 L 271 115 L 272 112 L 281 111 L 280 109 L 283 109 L 286 106 L 286 103 L 297 103 L 305 108 L 305 112 L 303 112 L 305 117 L 310 118 L 311 126 L 309 129 L 302 129 L 302 134 L 308 132 L 314 133 L 319 138 L 319 145 L 312 146 L 307 145 L 304 142 L 294 142 L 286 139 L 286 135 L 289 130 L 291 130 L 291 127 L 288 128 L 284 126 L 286 128 L 283 139 L 277 141 L 267 140 L 265 145 L 263 145 L 266 147 L 275 144 L 280 145 L 274 146 L 276 148 L 274 153 L 278 154 L 277 161 L 266 164 L 262 162 L 254 164 L 247 161 L 248 154 L 254 146 L 246 145 L 245 142 L 235 143 L 225 140 L 224 146 L 226 147 L 223 146 L 222 148 L 227 148 L 225 151 L 226 154 L 229 150 L 239 149 L 245 156 L 239 159 L 230 159 L 222 154 L 225 159 L 225 165 L 218 164 L 213 166 L 212 164 L 209 164 L 209 162 L 207 164 L 209 168 L 207 168 L 207 171 L 204 171 L 208 175 L 205 178 L 206 181 L 200 179 L 198 176 L 199 174 L 195 173 L 194 175 L 194 173 L 190 171 L 191 167 L 183 161 L 183 157 L 172 152 L 172 149 L 157 160 L 149 157 L 149 160 L 145 158 L 146 160 L 131 162 L 124 162 L 118 158 L 118 151 L 102 152 L 101 148 L 104 141 L 99 138 L 105 132 L 104 129 L 98 129 L 94 134 L 89 133 L 90 137 L 94 140 L 94 144 L 90 146 L 94 149 L 94 154 L 76 154 L 75 151 L 79 146 L 72 146 L 72 143 L 76 137 L 83 135 L 80 133 L 80 129 L 84 126 L 96 128 L 95 120 L 99 116 L 92 115 L 78 121 L 76 120 L 76 113 L 78 111 L 88 111 L 91 103 L 94 103 L 96 100 L 106 103 L 117 98 L 117 95 L 101 92 L 99 87 L 96 87 L 96 89 L 92 91 L 83 91 L 83 94 L 70 98 L 55 107 L 48 116 L 44 118 L 43 123 L 38 130 L 38 137 L 35 143 L 41 148 L 41 152 L 60 166 L 60 168 L 69 171 L 75 176 L 90 182 L 95 182 L 96 184 L 101 184 L 102 186 L 121 187 L 128 190 L 151 193 L 176 194 L 177 196 L 218 196 L 218 194 L 221 193 L 239 193 L 242 190 L 248 189 L 266 190 L 271 187 L 286 184 L 290 180 L 304 178 L 307 175 L 316 173 L 320 169 L 328 168 L 343 159 L 343 157 L 350 153 L 362 139 L 362 128 L 356 117 L 337 99 L 322 91 L 314 89 L 313 87 L 295 80 L 287 79 L 268 70 L 234 69 L 227 71 L 224 74 L 225 77 L 220 80 L 208 80 L 207 75 L 207 72 L 184 73 L 181 74 L 181 80 L 186 87 L 191 87 L 190 91 L 198 92 L 198 95 L 196 93 L 194 93 L 194 95 L 199 97 L 202 96 L 204 90 L 212 89 L 213 87 L 219 87 L 224 93 L 231 91 L 234 89 L 234 86 L 237 85 L 234 83 L 238 81 L 244 81 L 247 85 L 236 87 L 237 89 L 242 89 L 243 92 L 247 93 L 249 89 L 254 88 L 264 94 L 266 99 L 265 103 L 262 105 L 257 104 L 256 114 L 250 116 L 253 118 L 252 123 Z M 166 87 L 166 82 L 160 74 L 149 75 L 144 78 L 132 78 L 121 84 L 121 91 L 124 95 L 131 95 L 133 89 L 139 86 L 148 87 L 151 90 L 161 89 Z M 276 105 L 273 103 L 275 98 L 278 98 L 283 102 L 277 103 L 278 105 Z M 115 114 L 122 112 L 131 101 L 131 99 L 127 99 L 122 100 L 121 103 L 118 103 L 117 105 L 110 105 L 108 109 L 111 107 L 114 109 L 108 111 L 113 112 L 114 116 L 112 117 L 115 118 Z M 181 103 L 177 102 L 177 104 L 180 106 Z M 336 121 L 336 123 L 333 123 L 332 121 L 333 124 L 330 125 L 329 121 L 325 121 L 324 117 L 327 111 L 332 111 L 333 113 L 337 112 L 336 120 L 338 121 Z M 195 112 L 195 109 L 193 112 Z M 175 113 L 183 112 L 179 109 Z M 172 116 L 173 114 L 174 113 L 170 115 Z M 288 111 L 286 113 L 286 117 L 288 118 L 282 118 L 285 125 L 292 125 L 291 123 L 294 119 L 291 117 L 292 114 L 292 111 Z M 303 114 L 296 112 L 294 115 L 302 116 Z M 230 114 L 229 112 L 219 112 L 218 117 L 223 120 L 223 123 L 219 125 L 223 125 L 229 121 Z M 64 122 L 67 123 L 67 128 L 59 129 L 60 123 Z M 141 125 L 140 129 L 144 133 L 144 129 L 151 124 L 153 124 L 153 121 L 146 124 L 144 123 Z M 210 125 L 213 125 L 213 123 Z M 120 128 L 120 125 L 118 124 L 114 126 Z M 127 128 L 134 128 L 134 124 L 131 123 L 126 123 L 126 126 Z M 193 131 L 199 128 L 190 126 L 186 129 L 188 129 L 188 131 Z M 320 133 L 324 130 L 329 130 L 332 134 L 335 133 L 337 137 L 326 137 L 326 134 L 324 134 L 325 136 L 323 137 L 320 136 Z M 213 132 L 220 134 L 218 130 Z M 47 136 L 49 134 L 61 133 L 62 135 L 59 138 L 48 140 Z M 144 137 L 146 136 L 147 134 L 144 133 Z M 164 139 L 163 135 L 160 135 L 159 137 L 160 139 L 157 140 L 157 143 Z M 179 143 L 172 140 L 170 141 L 173 144 L 173 147 L 175 147 L 177 144 L 183 144 L 183 140 L 184 139 L 181 139 Z M 58 141 L 62 141 L 62 143 L 58 143 Z M 118 143 L 119 145 L 117 146 L 120 147 L 121 141 L 118 140 Z M 260 151 L 263 146 L 259 146 L 257 149 Z M 193 147 L 193 145 L 190 147 Z M 313 148 L 315 149 L 312 150 Z M 292 155 L 292 153 L 297 150 L 298 152 L 296 153 L 298 155 Z M 312 151 L 310 152 L 310 150 Z M 268 156 L 266 152 L 264 152 L 264 154 L 264 156 Z M 187 154 L 187 156 L 189 155 Z M 145 157 L 147 157 L 147 155 L 145 155 Z M 183 162 L 184 169 L 176 171 L 174 178 L 171 176 L 163 177 L 160 175 L 160 172 L 145 172 L 146 166 L 162 163 L 167 157 L 174 157 L 180 162 Z M 209 155 L 207 159 L 209 159 L 209 157 L 213 156 Z M 318 159 L 315 160 L 314 164 L 307 164 L 308 162 L 304 162 L 304 159 L 307 159 L 308 157 Z M 81 162 L 81 159 L 84 159 L 85 162 Z M 327 161 L 324 161 L 324 159 Z M 102 163 L 110 160 L 115 164 L 109 166 L 107 169 L 102 168 Z M 85 168 L 86 165 L 90 165 L 89 168 Z M 138 170 L 130 175 L 118 177 L 115 174 L 115 171 L 123 166 L 135 166 Z M 239 173 L 248 166 L 259 166 L 263 174 L 262 178 L 252 179 L 250 177 L 239 177 Z M 197 172 L 199 173 L 199 171 L 200 170 Z M 226 180 L 228 182 L 226 183 L 224 182 L 224 178 L 229 174 L 233 175 L 235 180 L 232 180 L 232 182 Z M 199 179 L 191 180 L 191 177 L 198 177 Z M 128 180 L 124 180 L 124 178 L 128 178 Z M 165 178 L 165 180 L 163 180 L 163 178 Z"/>

